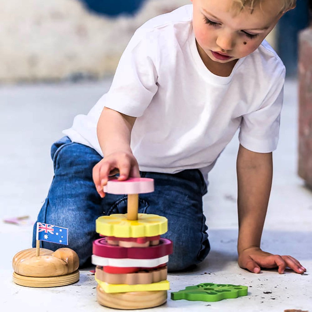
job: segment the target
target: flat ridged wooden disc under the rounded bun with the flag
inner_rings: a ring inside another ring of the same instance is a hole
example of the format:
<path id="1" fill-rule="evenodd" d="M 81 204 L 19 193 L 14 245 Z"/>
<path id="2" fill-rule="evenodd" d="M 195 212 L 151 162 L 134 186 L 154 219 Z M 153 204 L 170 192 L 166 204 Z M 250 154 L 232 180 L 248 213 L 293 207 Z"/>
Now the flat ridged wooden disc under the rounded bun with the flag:
<path id="1" fill-rule="evenodd" d="M 13 272 L 13 282 L 27 287 L 56 287 L 75 283 L 79 280 L 79 270 L 73 273 L 52 276 L 52 277 L 32 277 L 23 276 Z"/>

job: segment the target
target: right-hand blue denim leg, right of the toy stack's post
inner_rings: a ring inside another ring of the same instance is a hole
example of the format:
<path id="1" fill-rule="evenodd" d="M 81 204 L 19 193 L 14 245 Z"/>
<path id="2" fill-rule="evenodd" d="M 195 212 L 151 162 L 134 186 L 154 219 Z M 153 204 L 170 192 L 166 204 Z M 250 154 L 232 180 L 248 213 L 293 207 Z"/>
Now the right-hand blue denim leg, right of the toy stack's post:
<path id="1" fill-rule="evenodd" d="M 199 170 L 177 174 L 144 173 L 154 178 L 155 191 L 140 194 L 148 203 L 146 213 L 168 219 L 168 232 L 163 237 L 173 241 L 168 270 L 183 271 L 204 260 L 210 250 L 202 196 L 207 192 Z"/>

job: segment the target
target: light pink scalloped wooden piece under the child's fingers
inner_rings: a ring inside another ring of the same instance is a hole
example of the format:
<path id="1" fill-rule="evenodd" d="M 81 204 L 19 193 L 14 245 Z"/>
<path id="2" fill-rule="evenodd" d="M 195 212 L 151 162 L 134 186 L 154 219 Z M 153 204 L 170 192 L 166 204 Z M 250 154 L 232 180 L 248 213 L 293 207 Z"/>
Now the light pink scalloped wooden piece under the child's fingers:
<path id="1" fill-rule="evenodd" d="M 129 178 L 118 181 L 118 178 L 110 178 L 103 191 L 110 194 L 142 194 L 154 192 L 154 179 Z"/>

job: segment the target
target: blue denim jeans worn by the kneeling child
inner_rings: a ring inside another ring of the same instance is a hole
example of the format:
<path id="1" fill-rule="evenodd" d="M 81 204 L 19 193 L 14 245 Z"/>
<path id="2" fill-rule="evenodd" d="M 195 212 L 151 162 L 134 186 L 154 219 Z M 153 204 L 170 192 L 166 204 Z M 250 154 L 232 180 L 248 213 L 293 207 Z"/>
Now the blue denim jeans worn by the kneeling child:
<path id="1" fill-rule="evenodd" d="M 54 177 L 37 222 L 68 228 L 68 247 L 77 252 L 80 267 L 90 264 L 92 241 L 99 238 L 95 220 L 103 215 L 127 212 L 127 196 L 96 192 L 92 168 L 102 157 L 94 149 L 63 137 L 51 147 Z M 153 178 L 154 193 L 139 195 L 139 213 L 164 216 L 168 232 L 162 236 L 173 241 L 168 270 L 180 271 L 201 262 L 210 245 L 206 233 L 206 218 L 202 211 L 202 196 L 206 183 L 197 169 L 175 174 L 140 172 Z M 56 250 L 62 246 L 45 241 L 43 248 Z M 36 246 L 36 224 L 32 246 Z M 66 247 L 66 246 L 63 246 Z"/>

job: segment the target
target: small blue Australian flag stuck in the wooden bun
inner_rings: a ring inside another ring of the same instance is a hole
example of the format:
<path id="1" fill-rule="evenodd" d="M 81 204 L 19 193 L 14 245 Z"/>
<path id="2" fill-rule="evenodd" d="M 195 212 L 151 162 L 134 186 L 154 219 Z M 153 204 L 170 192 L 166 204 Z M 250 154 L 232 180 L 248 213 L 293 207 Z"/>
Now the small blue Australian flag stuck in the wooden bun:
<path id="1" fill-rule="evenodd" d="M 68 228 L 37 222 L 37 241 L 68 245 Z"/>

